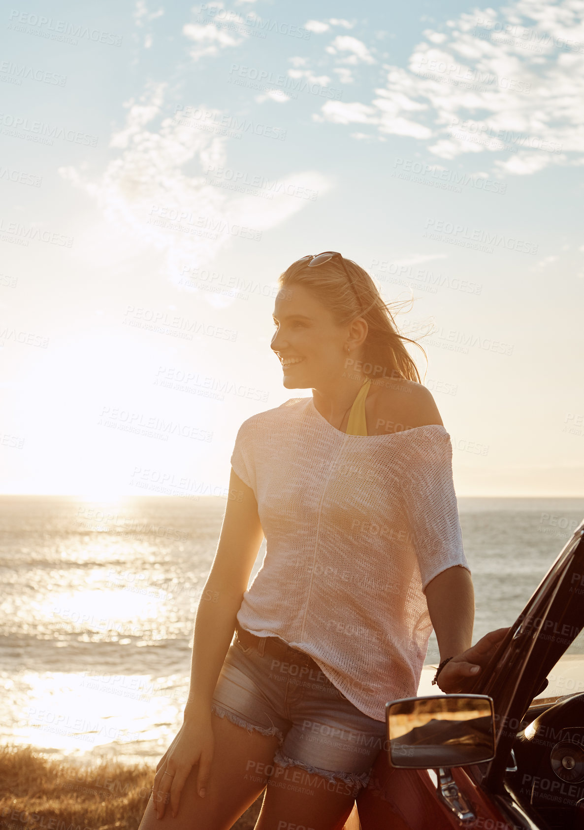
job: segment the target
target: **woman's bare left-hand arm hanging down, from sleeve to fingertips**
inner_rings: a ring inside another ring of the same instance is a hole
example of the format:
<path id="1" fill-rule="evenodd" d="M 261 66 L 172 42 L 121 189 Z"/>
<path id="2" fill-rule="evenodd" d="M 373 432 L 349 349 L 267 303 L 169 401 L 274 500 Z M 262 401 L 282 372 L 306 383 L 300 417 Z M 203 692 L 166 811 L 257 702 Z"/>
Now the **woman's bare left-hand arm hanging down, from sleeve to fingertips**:
<path id="1" fill-rule="evenodd" d="M 153 802 L 160 817 L 164 815 L 168 793 L 173 816 L 178 812 L 184 783 L 195 764 L 199 765 L 197 791 L 200 795 L 205 793 L 213 755 L 212 696 L 264 538 L 254 491 L 233 468 L 229 495 L 217 552 L 195 618 L 191 682 L 183 726 L 159 761 L 154 778 Z"/>

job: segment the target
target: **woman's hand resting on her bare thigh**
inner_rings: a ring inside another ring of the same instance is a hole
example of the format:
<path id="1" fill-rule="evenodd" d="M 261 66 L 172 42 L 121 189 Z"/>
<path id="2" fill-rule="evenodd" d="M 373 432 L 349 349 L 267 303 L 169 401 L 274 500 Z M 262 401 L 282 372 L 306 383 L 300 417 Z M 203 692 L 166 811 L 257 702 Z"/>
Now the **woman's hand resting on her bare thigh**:
<path id="1" fill-rule="evenodd" d="M 213 749 L 211 715 L 185 720 L 156 767 L 153 804 L 157 818 L 163 818 L 168 801 L 173 818 L 177 815 L 184 783 L 195 764 L 199 767 L 197 793 L 205 795 Z"/>

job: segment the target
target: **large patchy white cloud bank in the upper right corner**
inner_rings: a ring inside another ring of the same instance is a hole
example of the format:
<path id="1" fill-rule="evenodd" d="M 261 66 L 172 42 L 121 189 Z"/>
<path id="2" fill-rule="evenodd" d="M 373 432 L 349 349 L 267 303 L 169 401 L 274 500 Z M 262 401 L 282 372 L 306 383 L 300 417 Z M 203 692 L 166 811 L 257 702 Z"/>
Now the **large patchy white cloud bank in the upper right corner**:
<path id="1" fill-rule="evenodd" d="M 322 119 L 367 123 L 380 140 L 424 140 L 441 159 L 494 154 L 494 173 L 582 165 L 583 18 L 583 0 L 515 0 L 498 11 L 463 12 L 445 31 L 426 29 L 406 67 L 385 66 L 385 85 L 368 101 L 343 110 L 328 101 Z M 329 53 L 348 41 L 335 38 Z M 367 60 L 359 49 L 349 51 Z"/>

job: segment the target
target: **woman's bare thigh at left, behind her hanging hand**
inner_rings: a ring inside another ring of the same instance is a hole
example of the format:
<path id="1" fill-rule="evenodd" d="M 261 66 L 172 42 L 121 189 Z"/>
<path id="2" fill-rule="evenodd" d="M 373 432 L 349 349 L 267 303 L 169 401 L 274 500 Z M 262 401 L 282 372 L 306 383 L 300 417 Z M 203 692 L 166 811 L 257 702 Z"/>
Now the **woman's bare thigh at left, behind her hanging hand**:
<path id="1" fill-rule="evenodd" d="M 215 751 L 205 797 L 197 793 L 195 764 L 184 784 L 176 818 L 169 804 L 163 818 L 156 818 L 150 795 L 139 830 L 229 830 L 260 795 L 271 771 L 278 736 L 249 732 L 215 714 L 212 728 Z"/>

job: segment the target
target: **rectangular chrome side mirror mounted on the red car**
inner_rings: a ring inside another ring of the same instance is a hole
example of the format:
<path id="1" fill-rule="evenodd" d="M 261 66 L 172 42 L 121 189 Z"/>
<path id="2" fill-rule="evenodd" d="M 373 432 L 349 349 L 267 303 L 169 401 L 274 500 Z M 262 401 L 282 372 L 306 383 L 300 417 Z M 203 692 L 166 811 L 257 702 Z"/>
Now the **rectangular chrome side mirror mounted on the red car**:
<path id="1" fill-rule="evenodd" d="M 404 697 L 386 703 L 385 712 L 393 767 L 463 767 L 494 758 L 494 710 L 487 695 Z"/>

